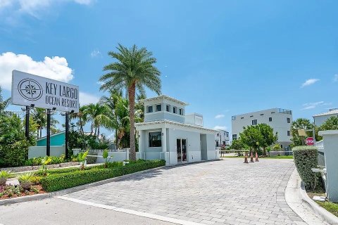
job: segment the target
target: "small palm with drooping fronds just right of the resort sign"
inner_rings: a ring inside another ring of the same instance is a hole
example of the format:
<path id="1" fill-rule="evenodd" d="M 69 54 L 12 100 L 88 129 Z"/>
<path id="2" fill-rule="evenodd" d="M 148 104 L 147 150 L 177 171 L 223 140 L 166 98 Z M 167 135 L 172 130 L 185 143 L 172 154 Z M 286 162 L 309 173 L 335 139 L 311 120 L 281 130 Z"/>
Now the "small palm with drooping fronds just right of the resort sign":
<path id="1" fill-rule="evenodd" d="M 108 117 L 108 107 L 101 103 L 91 103 L 84 108 L 84 115 L 88 117 L 88 120 L 92 121 L 91 125 L 91 134 L 95 136 L 100 135 L 100 127 L 103 125 L 104 127 L 109 127 L 111 124 L 111 120 Z"/>

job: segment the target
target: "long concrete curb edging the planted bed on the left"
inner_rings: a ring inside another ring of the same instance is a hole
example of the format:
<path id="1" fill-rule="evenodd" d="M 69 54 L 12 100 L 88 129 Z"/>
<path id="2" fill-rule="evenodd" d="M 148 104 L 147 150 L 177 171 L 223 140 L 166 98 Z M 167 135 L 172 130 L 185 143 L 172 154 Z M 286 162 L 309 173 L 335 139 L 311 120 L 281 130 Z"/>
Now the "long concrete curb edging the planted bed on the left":
<path id="1" fill-rule="evenodd" d="M 132 174 L 126 174 L 126 175 L 123 175 L 123 176 L 117 176 L 117 177 L 102 180 L 102 181 L 96 181 L 96 182 L 90 183 L 90 184 L 83 184 L 81 186 L 76 186 L 76 187 L 68 188 L 68 189 L 61 190 L 61 191 L 54 191 L 54 192 L 51 192 L 51 193 L 29 195 L 29 196 L 18 197 L 18 198 L 8 198 L 8 199 L 0 200 L 0 205 L 11 205 L 11 204 L 15 204 L 15 203 L 24 203 L 24 202 L 34 201 L 34 200 L 43 200 L 45 198 L 52 198 L 52 197 L 58 196 L 58 195 L 65 195 L 65 194 L 72 193 L 72 192 L 75 192 L 75 191 L 81 191 L 81 190 L 84 190 L 84 189 L 87 189 L 87 188 L 92 188 L 92 187 L 100 186 L 102 184 L 108 184 L 108 183 L 111 183 L 113 181 L 125 179 L 125 178 L 133 176 L 135 174 L 144 174 L 146 172 L 156 171 L 158 169 L 163 169 L 164 167 L 165 166 L 156 167 L 156 168 L 153 168 L 153 169 L 146 169 L 146 170 L 143 170 L 143 171 L 140 171 L 140 172 L 135 172 L 135 173 L 132 173 Z"/>

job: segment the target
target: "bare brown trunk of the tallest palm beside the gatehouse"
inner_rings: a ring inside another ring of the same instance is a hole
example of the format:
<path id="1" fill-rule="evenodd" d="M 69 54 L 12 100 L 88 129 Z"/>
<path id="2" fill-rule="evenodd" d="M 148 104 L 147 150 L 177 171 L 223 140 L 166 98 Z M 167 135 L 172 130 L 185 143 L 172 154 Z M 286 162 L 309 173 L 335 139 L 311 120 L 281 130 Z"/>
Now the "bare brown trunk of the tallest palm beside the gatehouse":
<path id="1" fill-rule="evenodd" d="M 135 151 L 135 83 L 128 89 L 130 117 L 130 160 L 136 160 Z"/>

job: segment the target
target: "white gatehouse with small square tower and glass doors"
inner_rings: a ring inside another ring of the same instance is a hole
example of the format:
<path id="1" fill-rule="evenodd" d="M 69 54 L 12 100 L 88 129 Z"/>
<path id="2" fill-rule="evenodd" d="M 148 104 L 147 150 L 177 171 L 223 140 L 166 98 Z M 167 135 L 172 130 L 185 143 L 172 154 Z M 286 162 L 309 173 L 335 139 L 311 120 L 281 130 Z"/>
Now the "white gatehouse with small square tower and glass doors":
<path id="1" fill-rule="evenodd" d="M 135 124 L 139 135 L 138 158 L 163 159 L 167 165 L 219 158 L 215 130 L 203 127 L 203 116 L 185 115 L 188 105 L 169 96 L 144 101 L 144 122 Z"/>

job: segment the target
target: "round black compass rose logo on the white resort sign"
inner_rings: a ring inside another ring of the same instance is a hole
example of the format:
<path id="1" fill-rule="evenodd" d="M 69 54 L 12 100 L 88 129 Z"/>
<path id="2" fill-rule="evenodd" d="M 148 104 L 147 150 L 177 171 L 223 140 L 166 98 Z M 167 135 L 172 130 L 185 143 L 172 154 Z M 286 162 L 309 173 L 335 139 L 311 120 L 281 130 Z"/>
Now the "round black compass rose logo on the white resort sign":
<path id="1" fill-rule="evenodd" d="M 36 101 L 42 96 L 42 86 L 34 79 L 22 79 L 18 84 L 18 91 L 23 98 Z"/>

